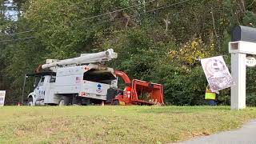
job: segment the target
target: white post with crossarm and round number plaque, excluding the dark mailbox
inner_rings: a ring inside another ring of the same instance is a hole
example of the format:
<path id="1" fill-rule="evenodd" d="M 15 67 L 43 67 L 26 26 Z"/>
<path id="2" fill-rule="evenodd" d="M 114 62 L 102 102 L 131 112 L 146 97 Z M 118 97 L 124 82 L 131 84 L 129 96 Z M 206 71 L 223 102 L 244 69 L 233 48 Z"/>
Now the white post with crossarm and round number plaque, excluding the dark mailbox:
<path id="1" fill-rule="evenodd" d="M 253 58 L 246 58 L 246 54 L 256 54 L 254 42 L 230 42 L 231 74 L 235 86 L 231 87 L 231 109 L 246 108 L 246 66 L 254 66 Z"/>

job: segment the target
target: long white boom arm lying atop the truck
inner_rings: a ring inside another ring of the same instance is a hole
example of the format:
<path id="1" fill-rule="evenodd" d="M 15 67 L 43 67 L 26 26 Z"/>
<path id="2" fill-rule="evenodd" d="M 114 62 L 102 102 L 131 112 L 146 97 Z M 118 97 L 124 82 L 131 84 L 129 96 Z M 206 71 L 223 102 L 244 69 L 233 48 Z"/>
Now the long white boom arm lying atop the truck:
<path id="1" fill-rule="evenodd" d="M 74 64 L 84 64 L 84 63 L 92 63 L 92 62 L 104 62 L 110 61 L 113 58 L 117 58 L 118 54 L 114 53 L 113 49 L 109 49 L 103 52 L 94 53 L 94 54 L 82 54 L 81 57 L 78 58 L 70 58 L 61 60 L 58 62 L 51 62 L 42 65 L 42 69 L 55 67 L 55 66 L 66 66 L 66 65 L 74 65 Z"/>

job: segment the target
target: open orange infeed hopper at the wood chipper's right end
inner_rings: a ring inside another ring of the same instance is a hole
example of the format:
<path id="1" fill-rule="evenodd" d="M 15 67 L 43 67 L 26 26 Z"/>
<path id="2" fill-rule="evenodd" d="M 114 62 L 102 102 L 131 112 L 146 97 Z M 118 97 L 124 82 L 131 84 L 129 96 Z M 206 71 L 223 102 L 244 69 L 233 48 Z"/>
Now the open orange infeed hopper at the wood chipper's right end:
<path id="1" fill-rule="evenodd" d="M 144 82 L 138 79 L 132 81 L 131 101 L 138 105 L 163 105 L 163 86 Z"/>

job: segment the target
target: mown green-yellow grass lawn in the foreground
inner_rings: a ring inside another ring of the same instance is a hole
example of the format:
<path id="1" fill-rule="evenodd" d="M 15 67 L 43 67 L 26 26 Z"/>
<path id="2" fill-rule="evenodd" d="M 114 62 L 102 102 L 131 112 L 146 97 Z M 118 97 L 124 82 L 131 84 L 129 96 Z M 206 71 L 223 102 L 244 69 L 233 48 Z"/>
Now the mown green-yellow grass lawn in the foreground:
<path id="1" fill-rule="evenodd" d="M 256 108 L 208 106 L 4 106 L 0 143 L 165 143 L 230 130 Z"/>

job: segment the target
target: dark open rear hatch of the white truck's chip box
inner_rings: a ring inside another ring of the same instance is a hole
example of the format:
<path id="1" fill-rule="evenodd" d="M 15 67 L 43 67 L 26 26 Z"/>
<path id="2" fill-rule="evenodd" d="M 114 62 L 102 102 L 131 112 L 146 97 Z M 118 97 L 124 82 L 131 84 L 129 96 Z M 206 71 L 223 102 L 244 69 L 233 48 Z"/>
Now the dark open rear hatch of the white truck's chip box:
<path id="1" fill-rule="evenodd" d="M 116 77 L 109 70 L 88 70 L 83 74 L 83 80 L 111 84 Z"/>

